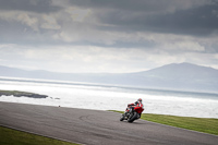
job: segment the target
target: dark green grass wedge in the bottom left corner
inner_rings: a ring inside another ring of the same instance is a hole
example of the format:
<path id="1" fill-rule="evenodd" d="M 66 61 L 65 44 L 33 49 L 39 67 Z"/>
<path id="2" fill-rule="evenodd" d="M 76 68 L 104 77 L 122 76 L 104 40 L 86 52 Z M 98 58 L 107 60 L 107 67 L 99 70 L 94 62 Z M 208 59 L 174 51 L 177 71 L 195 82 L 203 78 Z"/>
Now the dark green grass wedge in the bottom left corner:
<path id="1" fill-rule="evenodd" d="M 0 145 L 77 145 L 0 126 Z"/>

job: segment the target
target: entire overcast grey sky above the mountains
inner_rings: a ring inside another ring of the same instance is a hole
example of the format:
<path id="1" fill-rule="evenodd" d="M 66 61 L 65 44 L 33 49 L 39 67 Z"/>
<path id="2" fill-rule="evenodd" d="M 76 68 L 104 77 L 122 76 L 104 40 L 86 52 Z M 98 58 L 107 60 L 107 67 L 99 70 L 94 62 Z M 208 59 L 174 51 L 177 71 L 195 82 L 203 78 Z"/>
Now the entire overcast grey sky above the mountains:
<path id="1" fill-rule="evenodd" d="M 218 0 L 0 0 L 0 65 L 138 72 L 218 69 Z"/>

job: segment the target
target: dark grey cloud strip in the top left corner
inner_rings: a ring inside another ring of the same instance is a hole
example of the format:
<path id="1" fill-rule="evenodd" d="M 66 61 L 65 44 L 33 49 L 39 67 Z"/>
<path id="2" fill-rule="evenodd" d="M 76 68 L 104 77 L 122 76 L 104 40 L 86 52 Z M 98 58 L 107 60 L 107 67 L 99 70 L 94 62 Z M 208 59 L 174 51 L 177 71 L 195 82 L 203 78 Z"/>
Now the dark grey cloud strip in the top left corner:
<path id="1" fill-rule="evenodd" d="M 49 13 L 61 10 L 61 7 L 52 5 L 51 0 L 0 0 L 0 10 Z"/>

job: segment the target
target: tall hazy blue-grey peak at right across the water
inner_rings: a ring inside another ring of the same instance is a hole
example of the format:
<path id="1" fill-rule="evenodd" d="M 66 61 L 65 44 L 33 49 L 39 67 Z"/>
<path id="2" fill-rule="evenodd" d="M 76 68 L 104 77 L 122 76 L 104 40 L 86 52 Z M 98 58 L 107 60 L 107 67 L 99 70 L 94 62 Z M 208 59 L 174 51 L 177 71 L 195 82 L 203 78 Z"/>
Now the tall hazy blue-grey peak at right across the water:
<path id="1" fill-rule="evenodd" d="M 218 70 L 191 63 L 172 63 L 135 73 L 150 87 L 218 92 Z"/>

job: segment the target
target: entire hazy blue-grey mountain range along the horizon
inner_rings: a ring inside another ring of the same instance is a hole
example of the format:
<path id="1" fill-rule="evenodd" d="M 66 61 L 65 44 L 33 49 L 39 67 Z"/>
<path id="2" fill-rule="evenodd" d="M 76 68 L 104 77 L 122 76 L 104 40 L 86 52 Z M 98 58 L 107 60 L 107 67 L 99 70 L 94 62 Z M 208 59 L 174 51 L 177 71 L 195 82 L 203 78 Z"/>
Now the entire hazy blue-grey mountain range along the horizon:
<path id="1" fill-rule="evenodd" d="M 149 71 L 122 74 L 55 73 L 0 67 L 0 76 L 218 93 L 218 70 L 191 63 L 172 63 Z"/>

